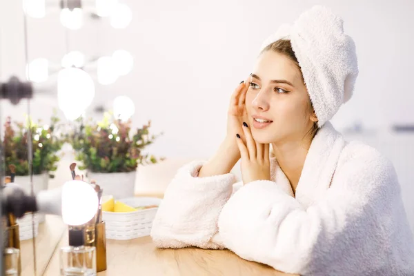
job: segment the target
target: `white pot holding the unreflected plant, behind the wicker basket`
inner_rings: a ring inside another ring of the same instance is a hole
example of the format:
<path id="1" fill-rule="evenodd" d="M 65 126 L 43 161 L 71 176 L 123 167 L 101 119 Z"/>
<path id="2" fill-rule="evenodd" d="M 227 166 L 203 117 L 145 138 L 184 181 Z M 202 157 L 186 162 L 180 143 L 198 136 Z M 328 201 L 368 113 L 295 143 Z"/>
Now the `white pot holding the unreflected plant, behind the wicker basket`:
<path id="1" fill-rule="evenodd" d="M 113 195 L 115 199 L 134 197 L 137 171 L 132 172 L 88 172 L 88 179 L 97 181 L 103 188 L 103 195 Z"/>

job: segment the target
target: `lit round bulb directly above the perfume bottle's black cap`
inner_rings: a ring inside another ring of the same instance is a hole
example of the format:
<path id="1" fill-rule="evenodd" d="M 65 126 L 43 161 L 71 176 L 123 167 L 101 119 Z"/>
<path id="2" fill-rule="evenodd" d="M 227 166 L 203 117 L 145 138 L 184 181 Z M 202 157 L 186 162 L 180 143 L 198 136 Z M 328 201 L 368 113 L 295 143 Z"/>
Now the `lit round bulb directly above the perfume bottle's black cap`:
<path id="1" fill-rule="evenodd" d="M 80 180 L 63 184 L 62 219 L 65 224 L 86 224 L 97 213 L 98 205 L 97 192 L 90 184 Z"/>

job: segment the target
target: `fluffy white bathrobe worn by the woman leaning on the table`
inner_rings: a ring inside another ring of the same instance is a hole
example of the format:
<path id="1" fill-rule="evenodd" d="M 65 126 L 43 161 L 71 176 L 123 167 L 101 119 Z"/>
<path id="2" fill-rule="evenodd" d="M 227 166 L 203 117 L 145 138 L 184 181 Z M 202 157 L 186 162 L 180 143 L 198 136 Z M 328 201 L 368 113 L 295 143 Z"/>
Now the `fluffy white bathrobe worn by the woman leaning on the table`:
<path id="1" fill-rule="evenodd" d="M 231 174 L 197 177 L 204 161 L 181 168 L 152 224 L 156 246 L 228 248 L 301 275 L 414 275 L 397 175 L 377 150 L 344 141 L 327 122 L 313 139 L 295 196 L 271 163 L 271 181 L 244 186 Z"/>

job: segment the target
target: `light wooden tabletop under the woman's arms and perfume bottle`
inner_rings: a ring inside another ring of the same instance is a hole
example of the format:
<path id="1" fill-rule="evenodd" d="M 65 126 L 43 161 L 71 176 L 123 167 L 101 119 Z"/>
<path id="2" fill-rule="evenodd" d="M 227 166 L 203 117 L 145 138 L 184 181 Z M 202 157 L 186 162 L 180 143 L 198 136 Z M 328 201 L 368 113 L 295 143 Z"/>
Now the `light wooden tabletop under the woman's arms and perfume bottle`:
<path id="1" fill-rule="evenodd" d="M 67 244 L 66 234 L 43 275 L 59 275 L 59 247 Z M 278 272 L 264 264 L 248 262 L 229 250 L 158 249 L 149 236 L 129 241 L 108 239 L 106 253 L 108 268 L 98 273 L 99 276 L 292 275 Z"/>

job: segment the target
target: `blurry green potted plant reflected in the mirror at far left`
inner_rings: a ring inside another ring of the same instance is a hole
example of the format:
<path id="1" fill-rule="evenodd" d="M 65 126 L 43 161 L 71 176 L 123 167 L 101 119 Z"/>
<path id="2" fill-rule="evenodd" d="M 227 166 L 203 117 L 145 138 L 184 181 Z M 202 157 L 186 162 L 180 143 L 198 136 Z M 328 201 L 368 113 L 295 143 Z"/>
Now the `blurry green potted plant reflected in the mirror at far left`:
<path id="1" fill-rule="evenodd" d="M 54 177 L 59 161 L 59 150 L 63 145 L 63 135 L 59 134 L 59 118 L 53 113 L 50 124 L 43 125 L 41 120 L 34 123 L 27 117 L 26 124 L 12 121 L 10 117 L 4 124 L 3 150 L 6 175 L 11 175 L 10 165 L 15 167 L 14 182 L 30 193 L 30 175 L 28 164 L 28 141 L 32 144 L 32 181 L 34 193 L 48 188 L 49 178 Z M 28 129 L 32 139 L 28 138 Z M 39 221 L 44 215 L 39 216 Z"/>

